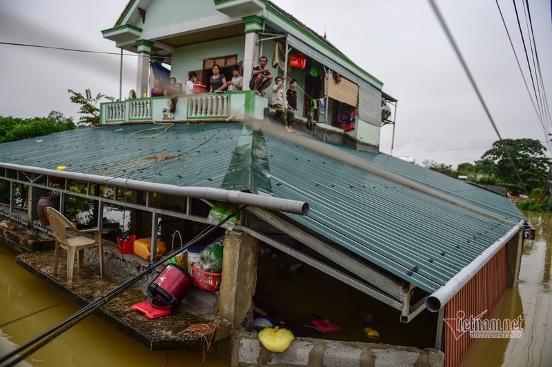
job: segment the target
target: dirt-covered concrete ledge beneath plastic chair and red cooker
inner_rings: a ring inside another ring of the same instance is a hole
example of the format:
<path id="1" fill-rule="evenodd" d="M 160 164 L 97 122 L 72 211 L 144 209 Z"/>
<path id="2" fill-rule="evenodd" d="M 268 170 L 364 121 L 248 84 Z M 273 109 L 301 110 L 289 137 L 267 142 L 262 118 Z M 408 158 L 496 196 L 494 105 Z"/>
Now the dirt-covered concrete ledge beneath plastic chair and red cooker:
<path id="1" fill-rule="evenodd" d="M 104 259 L 108 264 L 106 268 L 109 268 L 109 264 L 112 264 L 114 260 L 119 259 L 120 261 L 121 254 L 114 252 L 109 246 L 106 246 L 105 250 L 106 256 Z M 104 269 L 103 278 L 99 277 L 99 264 L 94 264 L 93 251 L 86 251 L 85 264 L 81 269 L 75 268 L 74 280 L 71 284 L 66 282 L 66 252 L 63 250 L 59 259 L 57 275 L 53 275 L 53 250 L 22 253 L 17 256 L 17 264 L 68 297 L 86 305 L 129 278 L 128 273 L 126 276 L 121 276 L 119 272 L 118 276 L 113 276 L 106 269 Z M 97 257 L 97 252 L 95 255 Z M 126 258 L 129 257 L 129 255 L 126 255 Z M 136 256 L 132 255 L 132 257 Z M 130 262 L 128 267 L 123 269 L 135 273 L 137 272 L 136 268 L 137 264 Z M 121 270 L 120 266 L 119 270 Z M 214 311 L 217 302 L 215 292 L 194 288 L 186 295 L 177 310 L 158 319 L 148 319 L 143 314 L 130 310 L 132 304 L 147 300 L 144 289 L 155 275 L 150 275 L 148 279 L 139 281 L 141 286 L 131 286 L 122 295 L 99 308 L 96 314 L 150 350 L 194 350 L 201 348 L 201 335 L 187 330 L 188 327 L 194 324 L 208 324 L 210 322 L 217 324 L 219 329 L 215 332 L 213 341 L 230 335 L 231 323 L 215 316 Z"/>

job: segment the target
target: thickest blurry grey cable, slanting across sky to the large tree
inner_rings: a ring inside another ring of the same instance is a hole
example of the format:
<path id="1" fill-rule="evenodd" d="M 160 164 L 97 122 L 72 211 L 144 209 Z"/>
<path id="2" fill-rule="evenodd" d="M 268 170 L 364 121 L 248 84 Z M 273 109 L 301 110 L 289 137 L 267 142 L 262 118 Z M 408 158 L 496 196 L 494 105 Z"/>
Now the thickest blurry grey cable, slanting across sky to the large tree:
<path id="1" fill-rule="evenodd" d="M 482 107 L 485 110 L 485 113 L 486 113 L 487 117 L 489 118 L 489 121 L 491 122 L 491 125 L 493 126 L 493 129 L 495 130 L 498 138 L 500 139 L 500 143 L 502 144 L 502 148 L 504 148 L 504 152 L 506 153 L 506 155 L 508 156 L 510 162 L 512 163 L 512 167 L 513 167 L 513 170 L 515 171 L 515 175 L 517 176 L 517 179 L 520 181 L 520 184 L 521 184 L 524 192 L 526 193 L 526 195 L 528 197 L 530 197 L 529 193 L 527 192 L 527 188 L 524 185 L 523 180 L 520 176 L 520 172 L 517 170 L 517 167 L 515 166 L 515 162 L 512 159 L 510 151 L 508 150 L 508 148 L 506 148 L 506 144 L 504 143 L 504 139 L 502 139 L 502 136 L 500 135 L 500 132 L 498 131 L 498 128 L 496 126 L 496 123 L 495 123 L 493 117 L 491 116 L 491 111 L 489 111 L 489 108 L 486 106 L 486 103 L 483 99 L 483 96 L 482 96 L 479 88 L 477 87 L 477 83 L 475 83 L 475 79 L 473 78 L 473 75 L 471 75 L 471 72 L 468 68 L 468 64 L 464 60 L 464 57 L 462 56 L 462 52 L 460 52 L 460 48 L 458 48 L 458 46 L 456 44 L 456 41 L 454 40 L 453 34 L 451 33 L 451 30 L 449 29 L 449 26 L 446 25 L 446 21 L 444 20 L 444 17 L 441 14 L 439 8 L 437 8 L 437 3 L 435 3 L 435 0 L 428 0 L 428 1 L 431 5 L 431 8 L 433 9 L 433 12 L 435 13 L 435 16 L 437 17 L 437 20 L 439 21 L 441 27 L 443 28 L 443 30 L 445 32 L 446 38 L 449 39 L 449 43 L 451 43 L 451 46 L 453 47 L 453 50 L 455 51 L 456 57 L 458 58 L 458 60 L 462 64 L 462 68 L 464 68 L 464 72 L 466 72 L 466 76 L 468 77 L 468 79 L 471 83 L 471 86 L 475 90 L 475 94 L 477 95 L 477 98 L 480 100 L 480 103 L 482 104 Z"/>

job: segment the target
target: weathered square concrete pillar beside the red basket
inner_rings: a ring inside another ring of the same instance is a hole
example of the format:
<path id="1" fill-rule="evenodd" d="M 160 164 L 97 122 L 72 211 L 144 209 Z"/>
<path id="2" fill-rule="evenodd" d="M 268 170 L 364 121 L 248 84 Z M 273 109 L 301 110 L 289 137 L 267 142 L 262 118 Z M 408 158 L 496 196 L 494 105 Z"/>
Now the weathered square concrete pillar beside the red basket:
<path id="1" fill-rule="evenodd" d="M 234 326 L 244 321 L 252 306 L 257 284 L 258 240 L 244 232 L 226 231 L 219 315 Z"/>

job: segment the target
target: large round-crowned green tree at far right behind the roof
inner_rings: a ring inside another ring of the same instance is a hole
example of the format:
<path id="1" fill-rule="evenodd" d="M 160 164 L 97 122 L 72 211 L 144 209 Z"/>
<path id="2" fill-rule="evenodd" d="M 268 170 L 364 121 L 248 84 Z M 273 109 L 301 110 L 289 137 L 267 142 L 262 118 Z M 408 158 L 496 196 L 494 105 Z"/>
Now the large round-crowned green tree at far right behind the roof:
<path id="1" fill-rule="evenodd" d="M 544 185 L 546 173 L 552 163 L 552 160 L 544 155 L 545 151 L 546 148 L 535 139 L 498 140 L 493 143 L 493 148 L 484 152 L 477 165 L 486 168 L 490 175 L 495 175 L 497 184 L 506 186 L 509 192 L 517 195 L 542 188 Z M 512 161 L 522 182 L 517 177 Z"/>

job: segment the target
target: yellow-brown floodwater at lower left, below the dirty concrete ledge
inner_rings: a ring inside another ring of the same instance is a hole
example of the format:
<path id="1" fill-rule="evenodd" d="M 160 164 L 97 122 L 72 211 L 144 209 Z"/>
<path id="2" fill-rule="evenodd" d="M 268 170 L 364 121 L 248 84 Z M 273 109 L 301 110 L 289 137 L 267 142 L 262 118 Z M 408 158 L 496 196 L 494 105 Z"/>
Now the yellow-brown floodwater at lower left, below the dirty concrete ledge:
<path id="1" fill-rule="evenodd" d="M 15 263 L 17 252 L 0 245 L 0 356 L 59 324 L 81 308 Z M 37 315 L 25 317 L 38 310 Z M 2 326 L 14 319 L 12 324 Z M 201 350 L 152 352 L 103 319 L 91 315 L 26 361 L 31 366 L 229 366 Z M 24 366 L 20 364 L 19 366 Z"/>

